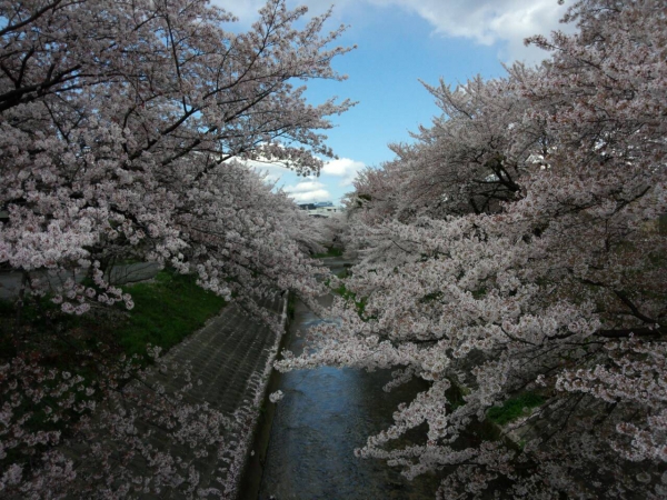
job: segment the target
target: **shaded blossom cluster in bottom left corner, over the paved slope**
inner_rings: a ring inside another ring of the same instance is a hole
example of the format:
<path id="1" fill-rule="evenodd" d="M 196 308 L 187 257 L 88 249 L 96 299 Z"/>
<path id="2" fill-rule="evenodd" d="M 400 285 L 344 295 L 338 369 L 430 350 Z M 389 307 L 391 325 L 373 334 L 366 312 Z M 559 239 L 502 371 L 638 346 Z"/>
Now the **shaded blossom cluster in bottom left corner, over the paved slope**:
<path id="1" fill-rule="evenodd" d="M 225 447 L 229 418 L 206 403 L 186 403 L 192 387 L 185 380 L 187 369 L 166 364 L 159 351 L 149 371 L 140 371 L 136 358 L 119 364 L 88 356 L 101 374 L 92 383 L 20 358 L 0 367 L 7 396 L 0 410 L 0 460 L 10 452 L 38 459 L 7 468 L 0 477 L 3 498 L 133 498 L 171 490 L 193 497 L 199 484 L 195 462 Z M 147 382 L 151 371 L 182 383 L 167 392 Z M 67 433 L 39 430 L 48 428 L 36 426 L 41 419 L 67 423 Z M 156 430 L 169 443 L 151 444 Z"/>

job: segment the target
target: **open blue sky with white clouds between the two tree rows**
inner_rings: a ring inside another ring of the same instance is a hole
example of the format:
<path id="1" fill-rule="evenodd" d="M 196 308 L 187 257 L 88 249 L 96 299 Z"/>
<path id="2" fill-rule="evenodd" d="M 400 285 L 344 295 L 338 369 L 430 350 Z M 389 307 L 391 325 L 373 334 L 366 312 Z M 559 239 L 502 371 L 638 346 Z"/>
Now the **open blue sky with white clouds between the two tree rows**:
<path id="1" fill-rule="evenodd" d="M 263 1 L 212 3 L 235 13 L 237 29 L 243 29 L 257 19 Z M 392 159 L 388 143 L 410 141 L 409 131 L 438 113 L 419 80 L 437 84 L 442 78 L 456 86 L 476 74 L 502 76 L 502 63 L 537 63 L 545 53 L 524 47 L 524 38 L 563 28 L 558 20 L 565 11 L 557 0 L 288 0 L 289 7 L 299 4 L 309 8 L 307 17 L 334 4 L 329 29 L 348 26 L 339 44 L 357 46 L 334 62 L 348 79 L 309 82 L 308 99 L 318 103 L 339 96 L 359 103 L 334 118 L 336 127 L 327 136 L 339 158 L 319 178 L 300 178 L 280 167 L 262 169 L 298 202 L 335 203 L 352 190 L 358 170 Z"/>

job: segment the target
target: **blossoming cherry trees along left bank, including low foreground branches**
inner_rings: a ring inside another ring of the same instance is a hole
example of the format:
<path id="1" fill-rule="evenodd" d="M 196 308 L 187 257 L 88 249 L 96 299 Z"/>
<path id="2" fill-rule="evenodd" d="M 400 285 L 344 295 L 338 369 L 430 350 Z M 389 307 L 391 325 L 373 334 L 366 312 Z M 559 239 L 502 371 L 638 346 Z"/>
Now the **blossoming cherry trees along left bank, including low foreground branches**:
<path id="1" fill-rule="evenodd" d="M 322 32 L 328 14 L 305 12 L 268 0 L 238 33 L 206 0 L 0 1 L 0 268 L 23 273 L 19 302 L 131 308 L 107 279 L 128 259 L 197 273 L 250 307 L 276 287 L 319 290 L 305 250 L 321 234 L 246 166 L 317 173 L 332 156 L 321 131 L 351 103 L 311 106 L 300 81 L 341 80 L 330 62 L 348 49 L 330 48 L 341 29 Z M 81 269 L 83 284 L 44 279 Z M 187 374 L 172 394 L 133 394 L 120 389 L 146 380 L 135 361 L 79 353 L 91 380 L 14 348 L 0 360 L 0 497 L 231 494 L 231 480 L 200 490 L 195 463 L 219 460 L 239 427 L 186 403 Z M 151 446 L 146 422 L 172 446 Z"/>

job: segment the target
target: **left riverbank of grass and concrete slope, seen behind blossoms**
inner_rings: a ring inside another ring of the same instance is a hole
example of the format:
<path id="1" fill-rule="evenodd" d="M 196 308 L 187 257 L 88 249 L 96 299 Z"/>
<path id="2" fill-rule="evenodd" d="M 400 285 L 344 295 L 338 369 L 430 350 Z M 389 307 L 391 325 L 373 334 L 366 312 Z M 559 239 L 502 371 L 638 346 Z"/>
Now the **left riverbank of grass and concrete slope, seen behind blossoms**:
<path id="1" fill-rule="evenodd" d="M 107 340 L 100 333 L 102 329 L 104 332 L 108 331 L 109 340 L 115 341 L 115 347 L 104 348 L 103 351 L 103 356 L 107 357 L 103 358 L 103 361 L 109 360 L 110 362 L 115 358 L 120 359 L 128 356 L 128 352 L 131 353 L 137 342 L 155 340 L 151 336 L 159 333 L 160 339 L 153 343 L 160 346 L 167 342 L 169 347 L 176 344 L 163 357 L 165 366 L 188 368 L 188 380 L 193 382 L 191 388 L 183 393 L 183 401 L 187 401 L 190 408 L 201 406 L 220 412 L 225 422 L 220 428 L 222 429 L 223 439 L 219 441 L 219 444 L 216 444 L 215 449 L 209 450 L 208 457 L 198 458 L 197 453 L 201 449 L 185 449 L 180 439 L 182 437 L 170 432 L 167 429 L 169 426 L 156 426 L 155 421 L 145 421 L 142 417 L 137 417 L 133 423 L 138 431 L 136 439 L 143 440 L 139 443 L 139 447 L 151 447 L 151 453 L 156 457 L 161 453 L 161 450 L 166 452 L 165 456 L 168 456 L 173 447 L 179 448 L 178 456 L 183 457 L 185 460 L 195 466 L 198 479 L 193 484 L 198 489 L 208 489 L 209 491 L 215 489 L 221 492 L 222 498 L 233 499 L 238 494 L 243 466 L 251 454 L 251 438 L 261 413 L 262 402 L 267 396 L 267 383 L 272 371 L 272 361 L 282 338 L 287 316 L 287 300 L 276 290 L 273 293 L 266 296 L 259 303 L 261 308 L 272 313 L 275 319 L 278 320 L 275 322 L 282 327 L 270 328 L 259 318 L 248 314 L 237 303 L 232 302 L 222 308 L 223 301 L 221 299 L 209 297 L 212 296 L 210 292 L 198 288 L 193 291 L 191 287 L 195 287 L 195 283 L 190 277 L 172 277 L 162 272 L 151 283 L 132 287 L 132 293 L 136 296 L 135 309 L 129 312 L 115 312 L 116 316 L 107 313 L 106 316 L 98 314 L 81 318 L 62 317 L 47 299 L 43 303 L 31 303 L 23 311 L 23 321 L 20 329 L 16 328 L 13 306 L 10 302 L 2 302 L 4 306 L 0 308 L 0 327 L 2 327 L 0 332 L 4 332 L 4 334 L 0 343 L 6 347 L 2 353 L 9 357 L 7 361 L 11 361 L 19 354 L 26 357 L 32 352 L 33 357 L 41 356 L 40 359 L 44 358 L 44 362 L 49 367 L 63 370 L 63 373 L 68 371 L 68 379 L 78 379 L 81 374 L 82 381 L 94 383 L 94 380 L 92 380 L 94 363 L 91 364 L 90 360 L 81 363 L 78 361 L 77 356 L 79 353 L 91 356 L 90 351 L 87 350 L 88 341 L 99 343 Z M 165 294 L 169 297 L 166 298 Z M 207 317 L 215 316 L 203 324 L 202 314 Z M 203 327 L 200 328 L 202 324 Z M 130 337 L 136 342 L 128 346 L 120 342 L 121 339 L 119 339 L 118 333 L 123 328 L 130 330 Z M 67 342 L 60 346 L 66 331 L 68 332 Z M 53 339 L 49 336 L 52 336 Z M 100 359 L 102 360 L 102 358 Z M 84 366 L 88 368 L 84 368 Z M 77 370 L 87 371 L 79 373 Z M 165 388 L 166 394 L 170 394 L 172 390 L 178 390 L 178 386 L 182 386 L 181 380 L 175 378 L 175 376 L 180 377 L 178 373 L 180 371 L 163 376 L 160 370 L 149 370 L 145 376 L 140 374 L 138 378 L 138 380 L 141 380 L 140 383 L 131 382 L 120 391 L 123 394 L 128 394 L 128 391 L 131 392 L 130 397 L 120 397 L 123 400 L 123 407 L 129 404 L 126 410 L 129 409 L 132 413 L 137 410 L 139 413 L 140 408 L 135 408 L 132 401 L 138 402 L 140 406 L 145 402 L 150 404 L 150 401 L 158 393 L 156 388 L 159 387 Z M 182 382 L 186 382 L 186 380 L 182 380 Z M 93 391 L 91 393 L 98 392 Z M 178 394 L 177 398 L 180 399 Z M 100 409 L 98 412 L 102 411 L 102 413 L 111 408 L 109 404 L 113 404 L 108 401 L 98 402 Z M 39 411 L 39 408 L 37 408 L 37 411 Z M 127 411 L 123 414 L 126 413 Z M 92 420 L 97 418 L 96 413 L 90 416 Z M 180 417 L 176 416 L 175 418 Z M 68 426 L 62 420 L 59 424 L 61 427 Z M 73 424 L 76 424 L 76 421 Z M 76 474 L 71 477 L 73 482 L 70 482 L 69 486 L 63 483 L 63 488 L 72 493 L 70 494 L 72 498 L 79 498 L 78 491 L 88 491 L 91 487 L 96 488 L 92 478 L 99 472 L 91 469 L 91 467 L 94 467 L 93 462 L 88 462 L 86 459 L 90 456 L 88 448 L 90 446 L 94 448 L 98 440 L 101 439 L 104 450 L 109 450 L 110 453 L 123 454 L 123 438 L 120 437 L 120 440 L 118 440 L 117 436 L 107 437 L 103 432 L 98 432 L 96 438 L 88 441 L 81 439 L 78 434 L 72 434 L 68 429 L 67 427 L 62 428 L 62 440 L 57 444 L 57 449 L 72 460 L 72 471 Z M 112 441 L 113 439 L 117 439 L 118 442 Z M 126 463 L 130 474 L 143 477 L 150 481 L 156 479 L 155 471 L 150 468 L 152 466 L 147 467 L 150 460 L 146 457 L 146 460 L 142 460 L 135 451 L 130 450 L 128 453 L 128 456 L 133 453 L 135 459 Z M 14 453 L 14 456 L 17 454 Z M 7 460 L 12 461 L 0 461 L 0 466 L 16 463 L 12 457 L 6 457 Z M 163 491 L 165 494 L 169 494 L 169 498 L 191 497 L 187 491 L 181 490 L 183 489 L 176 488 L 171 490 L 171 488 L 168 488 Z M 81 496 L 84 497 L 83 493 Z M 150 494 L 148 497 L 146 494 L 139 494 L 139 497 L 130 494 L 130 497 L 153 498 Z M 22 497 L 10 494 L 8 498 Z"/>

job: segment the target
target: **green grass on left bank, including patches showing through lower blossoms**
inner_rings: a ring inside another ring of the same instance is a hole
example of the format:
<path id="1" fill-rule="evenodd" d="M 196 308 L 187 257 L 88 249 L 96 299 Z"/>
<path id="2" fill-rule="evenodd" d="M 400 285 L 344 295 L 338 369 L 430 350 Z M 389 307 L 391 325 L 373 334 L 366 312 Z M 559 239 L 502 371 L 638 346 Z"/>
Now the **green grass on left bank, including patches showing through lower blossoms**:
<path id="1" fill-rule="evenodd" d="M 73 397 L 78 401 L 99 401 L 103 398 L 103 391 L 99 390 L 103 383 L 98 386 L 97 382 L 106 381 L 109 373 L 118 374 L 103 367 L 113 367 L 122 354 L 139 354 L 133 361 L 135 368 L 146 367 L 151 360 L 141 354 L 146 353 L 148 343 L 168 350 L 201 328 L 225 306 L 221 298 L 198 287 L 196 277 L 173 271 L 162 271 L 153 282 L 123 287 L 123 290 L 131 293 L 135 301 L 130 311 L 117 304 L 78 317 L 62 313 L 49 297 L 32 298 L 21 310 L 20 323 L 16 303 L 0 301 L 0 364 L 21 357 L 46 369 L 81 376 L 81 387 L 91 387 L 96 391 L 84 396 L 77 390 Z M 10 380 L 0 379 L 0 392 L 4 393 Z M 116 380 L 121 384 L 126 381 L 125 378 Z M 42 381 L 29 377 L 20 383 L 34 390 Z M 43 383 L 54 387 L 58 380 Z M 72 424 L 79 421 L 81 413 L 62 410 L 58 412 L 58 420 L 50 420 L 46 409 L 58 408 L 59 401 L 50 394 L 37 402 L 24 398 L 12 407 L 12 421 L 22 420 L 22 426 L 30 432 L 59 431 L 71 437 Z M 19 463 L 24 471 L 30 471 L 33 458 L 26 454 L 30 448 L 19 443 L 7 450 L 0 458 L 0 470 L 10 463 Z M 42 444 L 36 448 L 39 453 L 48 449 Z"/>

